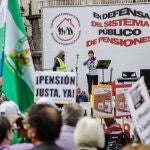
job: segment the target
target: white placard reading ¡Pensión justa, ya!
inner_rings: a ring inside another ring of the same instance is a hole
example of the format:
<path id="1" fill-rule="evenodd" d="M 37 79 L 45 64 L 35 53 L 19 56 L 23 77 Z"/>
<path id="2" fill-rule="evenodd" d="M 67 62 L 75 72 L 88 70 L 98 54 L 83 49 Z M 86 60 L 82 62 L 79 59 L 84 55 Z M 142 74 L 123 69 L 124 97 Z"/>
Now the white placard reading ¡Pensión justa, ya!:
<path id="1" fill-rule="evenodd" d="M 55 103 L 76 100 L 76 73 L 36 71 L 35 98 L 47 97 Z"/>

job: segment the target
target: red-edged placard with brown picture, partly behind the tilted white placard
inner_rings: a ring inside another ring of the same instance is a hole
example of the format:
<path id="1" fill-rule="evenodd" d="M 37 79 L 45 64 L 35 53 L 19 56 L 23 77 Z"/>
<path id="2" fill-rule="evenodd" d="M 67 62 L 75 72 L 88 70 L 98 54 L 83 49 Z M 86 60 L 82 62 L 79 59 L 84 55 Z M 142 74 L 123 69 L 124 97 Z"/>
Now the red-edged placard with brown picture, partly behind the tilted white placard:
<path id="1" fill-rule="evenodd" d="M 116 117 L 131 116 L 125 93 L 131 84 L 116 85 L 115 115 Z"/>

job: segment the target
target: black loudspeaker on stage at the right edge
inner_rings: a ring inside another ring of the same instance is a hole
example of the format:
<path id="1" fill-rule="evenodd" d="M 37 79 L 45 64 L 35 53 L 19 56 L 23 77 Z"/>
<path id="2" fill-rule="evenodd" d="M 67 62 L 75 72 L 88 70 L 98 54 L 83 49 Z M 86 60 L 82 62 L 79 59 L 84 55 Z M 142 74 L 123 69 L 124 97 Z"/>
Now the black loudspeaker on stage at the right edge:
<path id="1" fill-rule="evenodd" d="M 150 89 L 150 69 L 140 69 L 140 76 L 144 76 L 147 89 Z"/>

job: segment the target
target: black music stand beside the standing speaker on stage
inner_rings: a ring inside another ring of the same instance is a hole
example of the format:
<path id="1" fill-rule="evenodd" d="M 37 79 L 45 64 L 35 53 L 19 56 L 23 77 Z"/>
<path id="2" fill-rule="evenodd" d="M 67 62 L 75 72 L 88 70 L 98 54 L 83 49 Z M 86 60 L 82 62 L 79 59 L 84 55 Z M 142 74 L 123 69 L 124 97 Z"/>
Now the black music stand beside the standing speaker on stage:
<path id="1" fill-rule="evenodd" d="M 102 82 L 101 84 L 108 84 L 104 82 L 104 69 L 108 69 L 111 60 L 98 60 L 96 69 L 102 69 Z"/>

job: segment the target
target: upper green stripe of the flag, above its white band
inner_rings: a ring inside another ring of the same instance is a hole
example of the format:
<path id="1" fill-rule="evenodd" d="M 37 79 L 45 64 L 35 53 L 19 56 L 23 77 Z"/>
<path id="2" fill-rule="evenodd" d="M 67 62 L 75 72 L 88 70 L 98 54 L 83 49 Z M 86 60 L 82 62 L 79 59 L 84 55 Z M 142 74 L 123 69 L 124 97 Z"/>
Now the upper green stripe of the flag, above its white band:
<path id="1" fill-rule="evenodd" d="M 22 21 L 22 16 L 21 16 L 21 13 L 19 11 L 20 8 L 19 8 L 18 1 L 17 0 L 9 0 L 8 1 L 8 10 L 10 11 L 10 13 L 12 15 L 15 24 L 22 31 L 22 33 L 24 35 L 26 35 L 24 24 L 23 24 L 23 21 Z"/>

